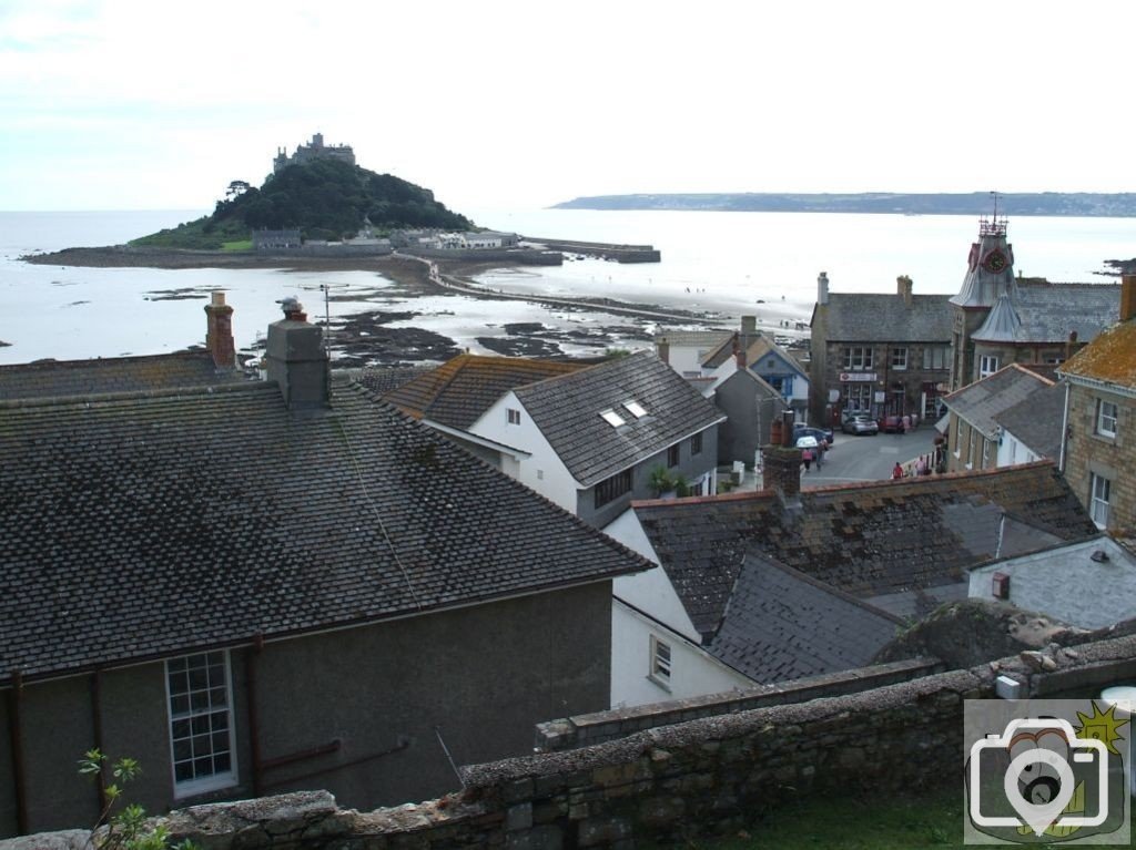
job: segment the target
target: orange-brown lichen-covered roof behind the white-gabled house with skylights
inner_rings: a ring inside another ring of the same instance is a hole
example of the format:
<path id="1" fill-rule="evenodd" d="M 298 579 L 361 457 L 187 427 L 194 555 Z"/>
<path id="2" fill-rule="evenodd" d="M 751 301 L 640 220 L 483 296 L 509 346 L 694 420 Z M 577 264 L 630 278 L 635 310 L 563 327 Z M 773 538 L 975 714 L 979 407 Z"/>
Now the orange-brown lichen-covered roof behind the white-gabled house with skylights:
<path id="1" fill-rule="evenodd" d="M 545 378 L 569 374 L 585 363 L 460 354 L 437 369 L 387 393 L 390 402 L 415 419 L 462 430 L 506 393 Z"/>

